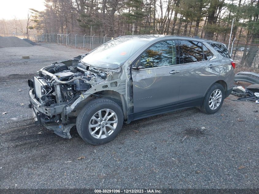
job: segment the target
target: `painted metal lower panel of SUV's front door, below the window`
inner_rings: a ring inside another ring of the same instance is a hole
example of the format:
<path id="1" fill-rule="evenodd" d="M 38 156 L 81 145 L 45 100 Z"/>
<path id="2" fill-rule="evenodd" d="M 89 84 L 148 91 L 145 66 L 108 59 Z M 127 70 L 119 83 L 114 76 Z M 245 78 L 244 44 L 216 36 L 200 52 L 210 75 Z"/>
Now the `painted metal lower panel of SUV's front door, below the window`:
<path id="1" fill-rule="evenodd" d="M 178 73 L 171 73 L 172 70 Z M 181 66 L 132 70 L 134 112 L 145 111 L 178 101 Z"/>

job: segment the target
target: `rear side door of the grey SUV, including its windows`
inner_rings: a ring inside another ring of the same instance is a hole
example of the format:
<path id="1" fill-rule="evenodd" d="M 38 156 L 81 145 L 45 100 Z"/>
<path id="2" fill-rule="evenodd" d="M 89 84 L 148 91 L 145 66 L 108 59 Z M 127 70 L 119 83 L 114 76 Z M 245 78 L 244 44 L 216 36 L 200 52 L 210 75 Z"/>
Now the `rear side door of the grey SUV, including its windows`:
<path id="1" fill-rule="evenodd" d="M 179 40 L 179 46 L 183 74 L 179 101 L 203 97 L 219 76 L 219 62 L 201 42 Z"/>

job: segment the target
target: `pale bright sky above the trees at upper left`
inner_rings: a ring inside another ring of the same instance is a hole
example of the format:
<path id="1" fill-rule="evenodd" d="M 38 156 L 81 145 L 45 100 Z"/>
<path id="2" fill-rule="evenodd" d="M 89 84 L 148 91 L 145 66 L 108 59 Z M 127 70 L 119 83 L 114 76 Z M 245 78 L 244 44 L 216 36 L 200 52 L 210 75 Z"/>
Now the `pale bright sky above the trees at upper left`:
<path id="1" fill-rule="evenodd" d="M 26 19 L 30 8 L 44 10 L 44 0 L 1 0 L 0 19 Z"/>

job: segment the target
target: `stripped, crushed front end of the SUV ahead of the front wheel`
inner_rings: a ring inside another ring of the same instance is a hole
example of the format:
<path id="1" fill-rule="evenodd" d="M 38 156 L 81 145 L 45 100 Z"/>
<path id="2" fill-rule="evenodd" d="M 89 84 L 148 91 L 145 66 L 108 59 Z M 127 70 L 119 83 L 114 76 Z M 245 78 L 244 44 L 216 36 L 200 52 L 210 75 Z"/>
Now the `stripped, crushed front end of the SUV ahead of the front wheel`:
<path id="1" fill-rule="evenodd" d="M 70 139 L 69 131 L 76 125 L 78 110 L 71 105 L 84 99 L 86 91 L 95 85 L 109 82 L 112 75 L 82 63 L 82 56 L 52 63 L 28 80 L 29 108 L 35 124 L 42 124 L 63 138 Z"/>

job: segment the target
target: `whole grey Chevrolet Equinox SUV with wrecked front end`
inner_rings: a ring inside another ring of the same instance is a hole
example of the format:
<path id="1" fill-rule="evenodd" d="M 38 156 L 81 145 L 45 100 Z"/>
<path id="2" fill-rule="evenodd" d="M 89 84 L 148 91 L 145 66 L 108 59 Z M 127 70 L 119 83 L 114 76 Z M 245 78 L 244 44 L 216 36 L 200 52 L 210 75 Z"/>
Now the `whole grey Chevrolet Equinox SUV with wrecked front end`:
<path id="1" fill-rule="evenodd" d="M 213 114 L 232 90 L 235 63 L 224 44 L 181 36 L 121 36 L 52 63 L 28 80 L 32 114 L 63 138 L 113 140 L 123 123 L 198 107 Z"/>

